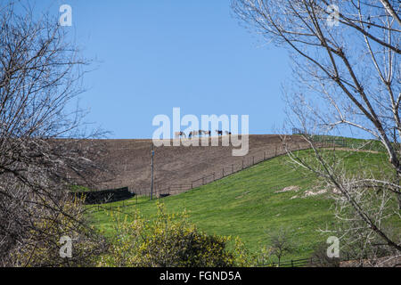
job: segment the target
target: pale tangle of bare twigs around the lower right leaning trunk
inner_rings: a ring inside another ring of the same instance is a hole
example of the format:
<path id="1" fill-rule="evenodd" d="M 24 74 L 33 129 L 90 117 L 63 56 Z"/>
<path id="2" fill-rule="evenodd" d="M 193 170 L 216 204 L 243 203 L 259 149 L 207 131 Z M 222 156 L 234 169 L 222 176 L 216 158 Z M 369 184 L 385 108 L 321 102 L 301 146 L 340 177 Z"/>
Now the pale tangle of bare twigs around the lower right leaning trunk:
<path id="1" fill-rule="evenodd" d="M 361 177 L 366 176 L 368 174 L 361 175 Z M 348 178 L 347 183 L 343 185 L 347 187 L 349 196 L 364 209 L 364 213 L 369 216 L 372 224 L 377 224 L 389 240 L 399 244 L 401 242 L 399 232 L 397 227 L 393 226 L 393 217 L 399 218 L 399 212 L 389 207 L 393 195 L 390 191 L 383 191 L 381 187 L 374 184 L 368 184 L 365 187 L 356 186 L 360 180 L 361 178 L 358 177 Z M 344 195 L 335 195 L 334 199 L 336 200 L 335 215 L 338 221 L 335 232 L 341 240 L 343 258 L 353 260 L 354 266 L 380 266 L 390 259 L 401 256 L 397 248 L 389 246 L 389 243 L 383 241 L 374 229 L 366 226 Z"/>

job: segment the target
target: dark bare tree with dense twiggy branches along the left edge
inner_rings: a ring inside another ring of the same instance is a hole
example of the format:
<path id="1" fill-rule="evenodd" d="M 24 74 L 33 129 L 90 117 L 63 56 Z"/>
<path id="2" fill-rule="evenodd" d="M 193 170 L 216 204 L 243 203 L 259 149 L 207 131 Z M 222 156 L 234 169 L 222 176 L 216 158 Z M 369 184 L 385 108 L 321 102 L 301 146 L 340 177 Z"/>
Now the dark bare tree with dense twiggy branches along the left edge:
<path id="1" fill-rule="evenodd" d="M 68 194 L 100 170 L 102 150 L 78 140 L 100 133 L 71 109 L 88 61 L 55 18 L 20 3 L 0 4 L 0 265 L 77 265 L 99 249 Z M 86 240 L 85 254 L 61 259 L 63 235 Z"/>

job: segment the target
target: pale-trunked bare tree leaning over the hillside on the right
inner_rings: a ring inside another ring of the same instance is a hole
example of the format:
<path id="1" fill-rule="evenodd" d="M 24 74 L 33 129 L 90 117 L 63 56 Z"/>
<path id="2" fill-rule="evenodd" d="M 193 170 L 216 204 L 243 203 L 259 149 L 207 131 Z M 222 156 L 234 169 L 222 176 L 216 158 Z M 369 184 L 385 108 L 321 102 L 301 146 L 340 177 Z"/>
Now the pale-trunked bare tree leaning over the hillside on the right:
<path id="1" fill-rule="evenodd" d="M 390 0 L 233 0 L 241 20 L 291 53 L 295 77 L 292 88 L 284 87 L 289 124 L 301 126 L 314 154 L 311 159 L 289 151 L 291 159 L 323 177 L 365 227 L 398 251 L 399 240 L 359 198 L 381 189 L 389 196 L 370 196 L 378 199 L 375 207 L 390 198 L 401 208 L 400 9 L 399 1 Z M 394 175 L 349 177 L 344 158 L 320 149 L 310 135 L 345 130 L 380 141 Z M 392 214 L 399 218 L 399 211 Z"/>

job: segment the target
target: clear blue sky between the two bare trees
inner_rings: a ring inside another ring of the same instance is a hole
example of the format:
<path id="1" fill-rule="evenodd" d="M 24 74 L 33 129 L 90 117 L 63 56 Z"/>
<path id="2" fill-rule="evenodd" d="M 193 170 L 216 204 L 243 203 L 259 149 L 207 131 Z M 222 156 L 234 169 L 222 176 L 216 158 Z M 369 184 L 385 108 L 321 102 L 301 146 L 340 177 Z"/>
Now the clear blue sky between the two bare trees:
<path id="1" fill-rule="evenodd" d="M 250 134 L 272 134 L 285 115 L 285 50 L 240 26 L 229 0 L 41 0 L 72 7 L 71 36 L 96 59 L 80 98 L 110 138 L 150 138 L 158 114 L 250 115 Z"/>

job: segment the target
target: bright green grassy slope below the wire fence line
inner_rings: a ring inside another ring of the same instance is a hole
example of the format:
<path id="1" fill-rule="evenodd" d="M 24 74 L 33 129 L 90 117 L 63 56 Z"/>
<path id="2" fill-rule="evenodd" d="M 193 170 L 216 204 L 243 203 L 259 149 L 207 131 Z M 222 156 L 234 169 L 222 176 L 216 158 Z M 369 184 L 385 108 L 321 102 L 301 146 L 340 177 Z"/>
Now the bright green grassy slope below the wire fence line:
<path id="1" fill-rule="evenodd" d="M 375 172 L 372 165 L 387 164 L 382 153 L 337 153 L 347 157 L 348 167 L 353 171 L 360 169 L 359 162 L 371 167 L 372 172 Z M 254 252 L 269 245 L 269 234 L 281 228 L 287 229 L 296 251 L 284 259 L 309 257 L 328 237 L 318 229 L 326 228 L 326 225 L 330 227 L 333 223 L 332 202 L 327 193 L 305 198 L 305 191 L 321 189 L 316 188 L 318 183 L 314 175 L 295 170 L 289 161 L 286 156 L 270 159 L 201 188 L 161 200 L 168 212 L 186 209 L 192 222 L 201 230 L 209 234 L 239 236 Z M 291 186 L 299 191 L 282 191 Z M 138 209 L 149 220 L 156 213 L 156 202 L 149 198 L 133 198 L 124 204 L 130 206 L 121 208 L 122 211 L 130 213 Z M 117 202 L 106 207 L 115 209 L 121 205 L 122 202 Z M 90 216 L 98 228 L 110 235 L 113 232 L 108 213 L 100 211 Z"/>

